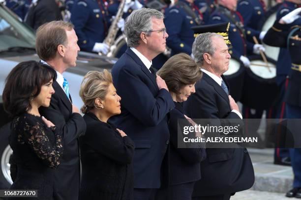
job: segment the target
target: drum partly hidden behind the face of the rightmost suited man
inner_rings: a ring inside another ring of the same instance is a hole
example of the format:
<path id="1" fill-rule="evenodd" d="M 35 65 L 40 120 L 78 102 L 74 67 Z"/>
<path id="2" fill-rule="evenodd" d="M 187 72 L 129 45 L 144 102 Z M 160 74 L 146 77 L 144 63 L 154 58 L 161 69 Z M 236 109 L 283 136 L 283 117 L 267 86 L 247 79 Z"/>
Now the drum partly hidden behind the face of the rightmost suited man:
<path id="1" fill-rule="evenodd" d="M 244 67 L 241 61 L 232 57 L 229 69 L 223 74 L 229 84 L 230 95 L 235 101 L 241 100 Z"/>

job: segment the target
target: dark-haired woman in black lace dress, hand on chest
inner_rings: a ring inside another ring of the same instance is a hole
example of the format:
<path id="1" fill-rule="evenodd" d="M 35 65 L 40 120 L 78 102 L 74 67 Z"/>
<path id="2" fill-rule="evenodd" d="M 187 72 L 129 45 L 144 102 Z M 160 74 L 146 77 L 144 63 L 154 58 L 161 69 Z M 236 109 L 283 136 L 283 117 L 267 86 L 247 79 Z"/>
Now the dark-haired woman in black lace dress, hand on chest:
<path id="1" fill-rule="evenodd" d="M 4 109 L 13 117 L 9 145 L 17 175 L 10 189 L 37 190 L 35 200 L 53 199 L 52 169 L 60 164 L 63 150 L 60 129 L 38 110 L 49 106 L 56 75 L 47 65 L 21 62 L 7 76 L 2 94 Z"/>

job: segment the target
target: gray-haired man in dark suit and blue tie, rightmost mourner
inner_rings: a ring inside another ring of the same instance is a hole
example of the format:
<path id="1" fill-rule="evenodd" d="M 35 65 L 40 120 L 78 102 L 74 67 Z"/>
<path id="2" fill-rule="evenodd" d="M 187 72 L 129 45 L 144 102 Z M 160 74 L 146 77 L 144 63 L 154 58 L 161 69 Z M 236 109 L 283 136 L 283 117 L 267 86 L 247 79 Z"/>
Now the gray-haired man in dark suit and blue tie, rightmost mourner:
<path id="1" fill-rule="evenodd" d="M 203 78 L 196 83 L 196 92 L 185 102 L 187 115 L 194 119 L 242 119 L 223 77 L 231 58 L 224 38 L 216 33 L 202 33 L 196 37 L 192 53 Z M 206 153 L 207 158 L 201 163 L 202 178 L 194 186 L 193 200 L 229 200 L 235 192 L 253 185 L 254 170 L 246 149 L 208 148 Z"/>

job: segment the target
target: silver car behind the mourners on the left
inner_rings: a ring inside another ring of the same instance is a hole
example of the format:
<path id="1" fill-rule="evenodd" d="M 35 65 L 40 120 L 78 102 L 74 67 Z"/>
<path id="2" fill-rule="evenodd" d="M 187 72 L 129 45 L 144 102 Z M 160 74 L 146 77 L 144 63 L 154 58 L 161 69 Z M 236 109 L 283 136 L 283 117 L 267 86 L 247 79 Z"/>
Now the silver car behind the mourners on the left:
<path id="1" fill-rule="evenodd" d="M 34 31 L 22 23 L 0 0 L 0 189 L 7 189 L 12 184 L 9 164 L 12 150 L 8 145 L 11 119 L 8 118 L 2 106 L 4 81 L 19 62 L 39 61 L 34 45 Z M 83 105 L 78 94 L 83 76 L 89 71 L 102 71 L 103 69 L 110 71 L 116 61 L 116 58 L 79 52 L 77 66 L 64 73 L 70 85 L 73 103 L 78 108 Z"/>

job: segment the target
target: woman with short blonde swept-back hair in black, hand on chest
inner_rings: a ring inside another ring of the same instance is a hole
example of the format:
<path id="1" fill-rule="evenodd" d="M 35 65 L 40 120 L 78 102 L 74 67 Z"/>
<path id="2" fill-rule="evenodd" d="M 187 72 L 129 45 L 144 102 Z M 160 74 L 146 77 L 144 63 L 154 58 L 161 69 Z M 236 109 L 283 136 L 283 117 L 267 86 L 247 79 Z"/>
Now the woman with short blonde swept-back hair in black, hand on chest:
<path id="1" fill-rule="evenodd" d="M 81 84 L 82 112 L 87 124 L 80 138 L 81 200 L 131 200 L 133 193 L 133 141 L 108 119 L 121 113 L 120 96 L 112 75 L 91 71 Z"/>

